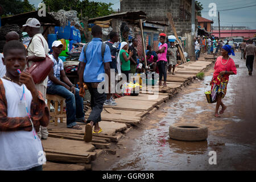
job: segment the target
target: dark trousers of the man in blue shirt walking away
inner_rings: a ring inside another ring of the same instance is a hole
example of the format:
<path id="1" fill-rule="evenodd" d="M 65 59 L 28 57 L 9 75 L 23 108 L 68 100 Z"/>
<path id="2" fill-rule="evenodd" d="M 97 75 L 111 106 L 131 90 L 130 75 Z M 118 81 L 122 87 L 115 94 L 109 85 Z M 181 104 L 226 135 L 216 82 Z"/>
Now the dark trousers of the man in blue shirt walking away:
<path id="1" fill-rule="evenodd" d="M 98 93 L 98 83 L 85 82 L 90 92 L 90 107 L 92 108 L 86 123 L 93 121 L 94 125 L 101 121 L 101 112 L 106 100 L 105 93 Z"/>

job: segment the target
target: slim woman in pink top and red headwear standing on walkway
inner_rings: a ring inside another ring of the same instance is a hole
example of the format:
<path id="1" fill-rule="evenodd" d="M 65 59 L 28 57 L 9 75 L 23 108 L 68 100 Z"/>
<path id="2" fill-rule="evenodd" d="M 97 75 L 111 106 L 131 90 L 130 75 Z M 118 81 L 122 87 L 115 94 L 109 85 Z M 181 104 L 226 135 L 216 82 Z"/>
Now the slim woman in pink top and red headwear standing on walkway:
<path id="1" fill-rule="evenodd" d="M 158 65 L 158 69 L 159 69 L 159 86 L 162 85 L 162 77 L 164 76 L 164 86 L 166 85 L 166 78 L 167 78 L 167 73 L 166 73 L 166 64 L 167 64 L 167 43 L 164 43 L 166 40 L 166 34 L 160 34 L 160 43 L 162 43 L 162 45 L 159 47 L 159 50 L 156 51 L 156 53 L 158 53 L 158 61 L 157 61 L 157 65 Z"/>

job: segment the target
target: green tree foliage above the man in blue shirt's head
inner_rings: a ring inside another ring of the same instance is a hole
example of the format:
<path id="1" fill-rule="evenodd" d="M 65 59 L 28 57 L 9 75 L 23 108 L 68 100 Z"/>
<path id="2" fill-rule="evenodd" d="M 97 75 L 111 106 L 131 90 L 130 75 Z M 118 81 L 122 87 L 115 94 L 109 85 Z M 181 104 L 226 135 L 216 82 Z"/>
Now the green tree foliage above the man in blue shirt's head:
<path id="1" fill-rule="evenodd" d="M 105 16 L 112 14 L 114 11 L 112 9 L 112 3 L 102 3 L 102 2 L 93 2 L 93 1 L 79 1 L 79 0 L 43 0 L 46 4 L 47 10 L 49 7 L 50 11 L 59 11 L 59 10 L 76 10 L 77 16 L 88 16 L 89 18 L 95 18 L 97 16 Z"/>

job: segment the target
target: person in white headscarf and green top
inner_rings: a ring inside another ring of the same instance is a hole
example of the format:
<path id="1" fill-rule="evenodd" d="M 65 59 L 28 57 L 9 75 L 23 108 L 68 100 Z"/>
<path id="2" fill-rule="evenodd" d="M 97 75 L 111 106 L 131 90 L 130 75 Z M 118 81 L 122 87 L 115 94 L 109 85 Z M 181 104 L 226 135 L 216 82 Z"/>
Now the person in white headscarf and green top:
<path id="1" fill-rule="evenodd" d="M 128 49 L 127 42 L 122 42 L 120 51 L 117 57 L 117 70 L 118 75 L 121 75 L 121 72 L 126 75 L 127 82 L 129 81 L 129 73 L 131 72 L 130 67 L 130 58 L 133 56 L 133 52 L 129 52 L 129 54 L 125 51 Z"/>

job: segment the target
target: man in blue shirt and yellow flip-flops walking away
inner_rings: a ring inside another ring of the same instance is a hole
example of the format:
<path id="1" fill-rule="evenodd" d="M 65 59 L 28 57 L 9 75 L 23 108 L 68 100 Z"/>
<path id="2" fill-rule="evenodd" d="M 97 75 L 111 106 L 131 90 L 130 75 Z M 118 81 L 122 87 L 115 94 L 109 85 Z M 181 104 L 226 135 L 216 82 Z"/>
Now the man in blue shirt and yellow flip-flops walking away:
<path id="1" fill-rule="evenodd" d="M 104 81 L 104 78 L 98 80 L 98 75 L 105 73 L 109 79 L 109 93 L 110 93 L 110 63 L 112 61 L 110 48 L 108 45 L 105 47 L 105 52 L 102 60 L 101 46 L 102 46 L 102 28 L 100 26 L 92 27 L 92 42 L 88 43 L 86 52 L 83 51 L 80 54 L 79 61 L 79 83 L 80 88 L 83 88 L 82 83 L 85 82 L 91 98 L 90 106 L 92 111 L 87 119 L 87 125 L 85 126 L 85 142 L 92 141 L 92 127 L 94 126 L 93 133 L 101 133 L 102 129 L 98 125 L 101 121 L 101 111 L 103 109 L 105 101 L 105 93 L 98 92 L 98 84 Z"/>

